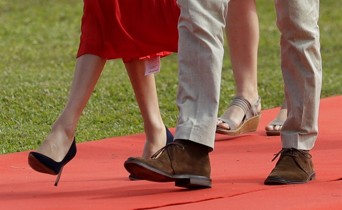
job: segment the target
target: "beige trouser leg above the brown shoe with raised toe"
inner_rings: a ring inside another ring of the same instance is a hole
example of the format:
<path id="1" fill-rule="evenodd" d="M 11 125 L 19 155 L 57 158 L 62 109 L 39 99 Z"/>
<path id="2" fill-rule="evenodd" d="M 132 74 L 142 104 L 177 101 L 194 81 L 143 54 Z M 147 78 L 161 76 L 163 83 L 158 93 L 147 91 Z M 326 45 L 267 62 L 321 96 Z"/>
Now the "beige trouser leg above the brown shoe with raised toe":
<path id="1" fill-rule="evenodd" d="M 180 111 L 175 139 L 214 148 L 229 0 L 178 0 Z"/>

